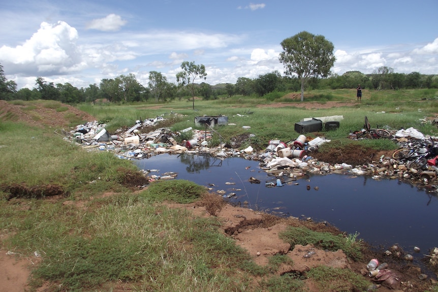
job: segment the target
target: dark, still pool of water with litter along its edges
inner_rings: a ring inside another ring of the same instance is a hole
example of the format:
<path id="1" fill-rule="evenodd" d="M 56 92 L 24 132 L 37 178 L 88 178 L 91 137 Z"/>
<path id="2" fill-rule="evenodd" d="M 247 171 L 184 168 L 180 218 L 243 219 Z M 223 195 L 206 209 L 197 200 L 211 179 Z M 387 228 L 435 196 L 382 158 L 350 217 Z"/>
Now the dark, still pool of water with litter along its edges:
<path id="1" fill-rule="evenodd" d="M 260 169 L 259 161 L 238 157 L 221 160 L 161 154 L 135 163 L 140 169 L 159 170 L 151 174 L 176 172 L 178 179 L 205 186 L 214 184 L 213 190 L 225 190 L 225 195 L 235 192 L 236 196 L 228 200 L 242 204 L 246 201 L 252 209 L 325 220 L 341 231 L 359 233 L 358 238 L 382 251 L 398 243 L 415 261 L 438 246 L 436 193 L 398 180 L 329 174 L 306 176 L 282 187 L 266 187 L 265 182 L 275 182 L 275 178 Z M 250 183 L 250 177 L 261 183 Z M 421 251 L 414 252 L 414 246 Z"/>

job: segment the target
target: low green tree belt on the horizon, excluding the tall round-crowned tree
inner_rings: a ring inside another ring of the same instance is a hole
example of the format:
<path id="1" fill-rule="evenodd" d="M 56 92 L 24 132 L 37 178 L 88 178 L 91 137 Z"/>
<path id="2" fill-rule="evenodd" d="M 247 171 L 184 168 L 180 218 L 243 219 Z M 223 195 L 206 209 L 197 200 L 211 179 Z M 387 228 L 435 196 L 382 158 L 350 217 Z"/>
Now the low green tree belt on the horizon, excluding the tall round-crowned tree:
<path id="1" fill-rule="evenodd" d="M 187 80 L 187 79 L 186 79 Z M 86 88 L 76 88 L 70 83 L 54 84 L 42 77 L 36 79 L 35 88 L 17 90 L 14 81 L 8 81 L 0 64 L 0 100 L 54 100 L 66 104 L 93 103 L 106 100 L 110 103 L 167 102 L 175 99 L 192 99 L 199 96 L 203 100 L 226 99 L 233 95 L 263 97 L 272 92 L 298 92 L 301 80 L 298 77 L 281 76 L 273 71 L 257 78 L 239 77 L 235 84 L 210 85 L 199 84 L 195 80 L 187 81 L 183 86 L 168 82 L 160 72 L 149 72 L 147 87 L 140 84 L 133 74 L 120 75 L 113 79 L 102 79 L 100 84 L 90 84 Z M 342 75 L 330 75 L 327 78 L 310 78 L 306 88 L 342 89 L 362 88 L 374 90 L 398 90 L 413 88 L 438 88 L 438 75 L 424 75 L 418 72 L 410 74 L 394 73 L 392 68 L 381 67 L 375 73 L 362 74 L 350 71 Z M 194 105 L 194 104 L 193 104 Z"/>

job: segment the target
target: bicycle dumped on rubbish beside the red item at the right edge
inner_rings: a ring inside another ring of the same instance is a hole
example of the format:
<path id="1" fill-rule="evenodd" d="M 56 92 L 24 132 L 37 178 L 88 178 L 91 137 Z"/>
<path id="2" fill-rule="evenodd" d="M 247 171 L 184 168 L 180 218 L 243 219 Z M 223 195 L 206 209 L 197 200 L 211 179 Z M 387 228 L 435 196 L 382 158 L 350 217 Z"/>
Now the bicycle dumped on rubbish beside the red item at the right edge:
<path id="1" fill-rule="evenodd" d="M 392 154 L 392 158 L 398 159 L 404 163 L 408 162 L 406 167 L 409 169 L 413 168 L 420 170 L 427 165 L 427 158 L 432 156 L 435 157 L 437 152 L 432 138 L 430 138 L 430 143 L 421 143 L 420 146 L 423 147 L 417 149 L 400 148 Z"/>

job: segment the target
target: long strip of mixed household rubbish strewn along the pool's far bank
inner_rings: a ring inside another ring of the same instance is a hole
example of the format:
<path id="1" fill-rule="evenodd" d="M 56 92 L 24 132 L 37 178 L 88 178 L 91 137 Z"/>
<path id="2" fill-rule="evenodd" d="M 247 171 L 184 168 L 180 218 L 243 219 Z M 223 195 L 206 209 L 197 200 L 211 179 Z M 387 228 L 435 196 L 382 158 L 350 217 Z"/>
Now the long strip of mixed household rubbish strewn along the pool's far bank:
<path id="1" fill-rule="evenodd" d="M 205 131 L 183 129 L 180 132 L 171 132 L 169 128 L 158 128 L 150 133 L 141 133 L 140 129 L 147 126 L 156 125 L 162 121 L 163 117 L 154 119 L 137 120 L 136 123 L 127 131 L 118 130 L 115 135 L 110 135 L 105 124 L 97 121 L 88 122 L 76 126 L 72 131 L 62 131 L 60 135 L 66 136 L 64 139 L 77 143 L 87 150 L 112 151 L 117 157 L 124 159 L 141 159 L 163 153 L 188 153 L 211 155 L 220 159 L 227 157 L 243 157 L 245 159 L 260 161 L 260 167 L 273 177 L 275 183 L 266 186 L 282 186 L 285 182 L 296 180 L 306 173 L 326 175 L 330 173 L 369 175 L 374 179 L 390 177 L 393 179 L 411 180 L 416 183 L 430 185 L 436 182 L 438 167 L 434 165 L 436 156 L 430 157 L 430 164 L 421 169 L 409 167 L 406 159 L 396 159 L 394 157 L 380 157 L 373 164 L 349 165 L 346 163 L 328 164 L 324 161 L 312 157 L 312 153 L 318 152 L 318 148 L 323 143 L 330 140 L 316 137 L 314 139 L 300 134 L 295 140 L 282 142 L 271 140 L 264 151 L 256 152 L 249 146 L 245 149 L 226 148 L 225 144 L 217 147 L 209 147 L 209 139 L 214 130 Z M 56 132 L 56 131 L 55 131 Z M 182 133 L 184 137 L 192 137 L 189 140 L 180 140 L 178 136 Z M 189 134 L 189 135 L 187 135 Z M 420 152 L 422 141 L 434 141 L 435 137 L 424 136 L 413 128 L 400 130 L 394 133 L 391 139 L 395 139 L 400 147 L 409 147 L 411 151 Z M 182 145 L 181 145 L 182 144 Z M 436 151 L 438 154 L 438 151 Z"/>

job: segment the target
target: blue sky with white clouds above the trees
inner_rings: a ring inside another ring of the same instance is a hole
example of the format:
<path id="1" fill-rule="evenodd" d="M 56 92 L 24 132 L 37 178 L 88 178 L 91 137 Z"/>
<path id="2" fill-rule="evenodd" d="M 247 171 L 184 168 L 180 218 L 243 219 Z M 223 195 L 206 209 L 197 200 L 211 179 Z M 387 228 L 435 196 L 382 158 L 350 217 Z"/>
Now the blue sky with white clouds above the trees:
<path id="1" fill-rule="evenodd" d="M 283 75 L 280 43 L 304 30 L 333 43 L 338 75 L 438 74 L 436 0 L 0 1 L 0 63 L 18 89 L 131 73 L 147 86 L 150 71 L 176 83 L 183 61 L 204 64 L 211 85 Z"/>

